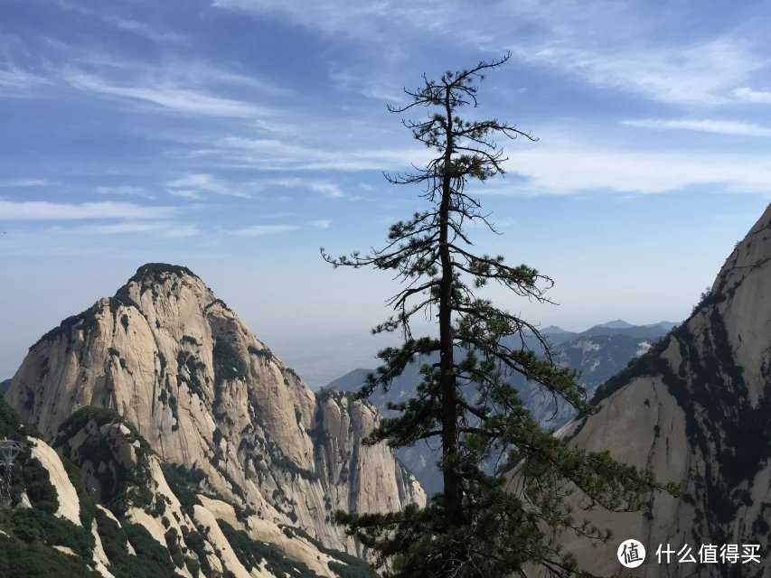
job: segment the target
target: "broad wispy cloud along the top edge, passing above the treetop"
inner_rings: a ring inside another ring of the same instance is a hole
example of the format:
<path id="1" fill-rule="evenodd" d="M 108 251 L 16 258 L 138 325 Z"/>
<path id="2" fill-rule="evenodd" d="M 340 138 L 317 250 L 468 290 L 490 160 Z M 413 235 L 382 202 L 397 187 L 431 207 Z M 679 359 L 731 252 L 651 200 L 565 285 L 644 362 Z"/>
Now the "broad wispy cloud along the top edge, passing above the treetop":
<path id="1" fill-rule="evenodd" d="M 367 58 L 378 59 L 379 65 L 370 66 L 373 72 L 365 75 L 359 74 L 364 67 L 357 68 L 358 79 L 345 70 L 333 70 L 333 76 L 380 98 L 398 98 L 400 88 L 382 82 L 383 63 L 409 62 L 414 57 L 392 47 L 408 46 L 416 39 L 425 42 L 427 36 L 494 54 L 509 49 L 520 61 L 578 76 L 596 87 L 677 104 L 729 102 L 734 89 L 769 64 L 764 28 L 726 27 L 699 36 L 682 29 L 682 22 L 693 17 L 689 3 L 672 6 L 666 20 L 647 10 L 645 3 L 579 0 L 498 2 L 482 11 L 462 0 L 389 0 L 353 9 L 347 0 L 212 4 L 277 15 L 332 38 L 360 42 Z"/>

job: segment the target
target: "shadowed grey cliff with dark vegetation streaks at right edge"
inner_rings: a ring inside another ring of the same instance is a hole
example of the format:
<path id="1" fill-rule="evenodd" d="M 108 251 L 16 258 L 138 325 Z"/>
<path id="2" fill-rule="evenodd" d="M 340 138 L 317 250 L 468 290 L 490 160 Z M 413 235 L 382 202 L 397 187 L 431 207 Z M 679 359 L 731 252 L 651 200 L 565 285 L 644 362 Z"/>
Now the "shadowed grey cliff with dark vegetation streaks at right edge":
<path id="1" fill-rule="evenodd" d="M 589 450 L 652 467 L 682 484 L 642 513 L 588 515 L 615 539 L 595 549 L 559 541 L 588 570 L 658 576 L 771 575 L 771 207 L 729 256 L 682 326 L 598 390 L 602 408 L 560 432 Z M 625 570 L 616 547 L 640 540 L 646 562 Z M 657 564 L 658 545 L 757 544 L 762 564 Z M 694 574 L 696 572 L 697 574 Z"/>

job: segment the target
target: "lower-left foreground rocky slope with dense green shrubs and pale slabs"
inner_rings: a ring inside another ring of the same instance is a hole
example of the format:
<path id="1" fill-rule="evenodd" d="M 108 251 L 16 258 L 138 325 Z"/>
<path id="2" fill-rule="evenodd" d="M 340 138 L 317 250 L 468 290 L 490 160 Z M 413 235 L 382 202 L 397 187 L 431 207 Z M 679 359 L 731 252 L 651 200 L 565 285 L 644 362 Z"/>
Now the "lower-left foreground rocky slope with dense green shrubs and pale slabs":
<path id="1" fill-rule="evenodd" d="M 36 578 L 374 578 L 362 560 L 213 495 L 163 463 L 112 410 L 84 407 L 52 445 L 0 400 L 24 444 L 0 510 L 0 575 Z"/>

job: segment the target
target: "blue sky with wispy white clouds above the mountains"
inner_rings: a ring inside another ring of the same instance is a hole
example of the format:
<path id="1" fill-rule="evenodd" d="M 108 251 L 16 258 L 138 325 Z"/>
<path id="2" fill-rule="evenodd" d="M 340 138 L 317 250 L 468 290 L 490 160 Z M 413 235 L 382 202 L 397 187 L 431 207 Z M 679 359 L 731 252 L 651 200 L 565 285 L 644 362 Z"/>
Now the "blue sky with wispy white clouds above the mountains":
<path id="1" fill-rule="evenodd" d="M 550 275 L 542 326 L 680 321 L 771 200 L 771 5 L 711 0 L 0 1 L 0 378 L 146 262 L 189 266 L 312 386 L 372 367 L 399 286 L 333 270 L 419 210 L 387 106 L 512 58 L 472 117 L 480 251 Z M 411 111 L 418 119 L 425 110 Z"/>

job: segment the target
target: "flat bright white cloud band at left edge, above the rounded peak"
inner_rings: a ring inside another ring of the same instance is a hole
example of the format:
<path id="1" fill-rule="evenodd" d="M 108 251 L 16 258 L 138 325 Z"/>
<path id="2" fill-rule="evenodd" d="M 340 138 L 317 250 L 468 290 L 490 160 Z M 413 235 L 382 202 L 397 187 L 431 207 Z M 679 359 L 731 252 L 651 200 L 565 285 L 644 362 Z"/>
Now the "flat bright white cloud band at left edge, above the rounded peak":
<path id="1" fill-rule="evenodd" d="M 165 219 L 174 207 L 151 207 L 128 202 L 61 203 L 45 200 L 0 200 L 3 220 Z"/>

